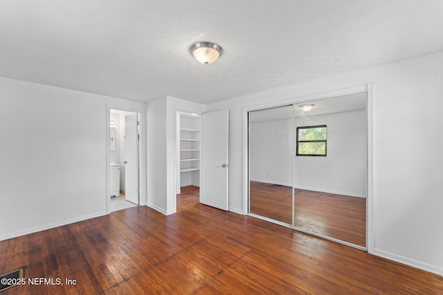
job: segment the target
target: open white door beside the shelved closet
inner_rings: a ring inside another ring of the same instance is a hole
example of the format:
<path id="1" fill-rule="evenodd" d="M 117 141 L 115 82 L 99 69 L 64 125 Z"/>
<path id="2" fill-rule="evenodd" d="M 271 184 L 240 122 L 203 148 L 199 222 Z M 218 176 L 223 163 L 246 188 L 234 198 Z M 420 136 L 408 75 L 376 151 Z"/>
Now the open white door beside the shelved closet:
<path id="1" fill-rule="evenodd" d="M 200 202 L 228 210 L 228 110 L 205 113 L 201 122 Z"/>

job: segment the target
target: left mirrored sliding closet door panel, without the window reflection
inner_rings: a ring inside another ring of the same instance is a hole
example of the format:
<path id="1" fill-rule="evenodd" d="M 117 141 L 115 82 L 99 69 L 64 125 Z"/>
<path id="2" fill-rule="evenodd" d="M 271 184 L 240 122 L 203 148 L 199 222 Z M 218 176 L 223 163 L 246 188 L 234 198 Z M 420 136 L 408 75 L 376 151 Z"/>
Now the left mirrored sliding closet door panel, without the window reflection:
<path id="1" fill-rule="evenodd" d="M 292 225 L 293 106 L 249 112 L 249 212 Z"/>

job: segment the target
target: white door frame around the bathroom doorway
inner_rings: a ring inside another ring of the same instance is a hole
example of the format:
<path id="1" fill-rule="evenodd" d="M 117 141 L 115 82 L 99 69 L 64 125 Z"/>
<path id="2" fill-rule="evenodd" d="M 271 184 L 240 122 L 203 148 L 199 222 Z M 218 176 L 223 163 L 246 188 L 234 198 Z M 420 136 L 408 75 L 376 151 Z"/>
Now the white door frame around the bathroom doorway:
<path id="1" fill-rule="evenodd" d="M 147 203 L 147 140 L 146 140 L 146 108 L 137 108 L 131 106 L 122 106 L 118 104 L 107 104 L 106 106 L 106 212 L 111 213 L 111 151 L 109 144 L 109 134 L 111 126 L 109 121 L 111 120 L 111 109 L 118 111 L 127 111 L 132 113 L 138 113 L 140 115 L 140 142 L 139 142 L 139 155 L 138 155 L 138 204 L 145 206 Z"/>

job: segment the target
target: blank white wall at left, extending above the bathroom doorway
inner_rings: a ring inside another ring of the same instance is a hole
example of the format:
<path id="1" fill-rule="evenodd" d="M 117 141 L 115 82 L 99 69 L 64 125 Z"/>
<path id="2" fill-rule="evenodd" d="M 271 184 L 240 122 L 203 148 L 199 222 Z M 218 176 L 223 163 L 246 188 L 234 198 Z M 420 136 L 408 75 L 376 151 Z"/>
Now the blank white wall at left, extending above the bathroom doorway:
<path id="1" fill-rule="evenodd" d="M 107 104 L 0 77 L 0 240 L 107 213 Z"/>

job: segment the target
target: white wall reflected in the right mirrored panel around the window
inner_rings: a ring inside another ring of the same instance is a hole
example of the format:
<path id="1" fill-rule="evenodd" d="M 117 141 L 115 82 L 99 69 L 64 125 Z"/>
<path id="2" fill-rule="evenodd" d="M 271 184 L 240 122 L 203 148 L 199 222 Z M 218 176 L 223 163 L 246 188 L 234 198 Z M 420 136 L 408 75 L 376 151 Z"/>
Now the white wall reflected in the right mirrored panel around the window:
<path id="1" fill-rule="evenodd" d="M 294 187 L 366 197 L 366 112 L 298 117 L 300 126 L 327 125 L 327 156 L 297 156 Z"/>

